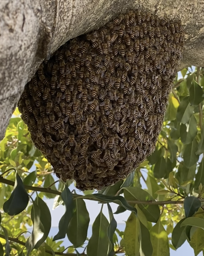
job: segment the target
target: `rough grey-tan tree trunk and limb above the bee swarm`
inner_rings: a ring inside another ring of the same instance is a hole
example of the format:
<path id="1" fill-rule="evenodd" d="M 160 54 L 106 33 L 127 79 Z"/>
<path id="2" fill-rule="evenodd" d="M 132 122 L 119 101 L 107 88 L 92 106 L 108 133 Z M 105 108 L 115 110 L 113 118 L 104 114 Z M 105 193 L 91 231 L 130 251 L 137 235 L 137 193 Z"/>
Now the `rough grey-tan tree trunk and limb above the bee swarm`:
<path id="1" fill-rule="evenodd" d="M 181 67 L 204 66 L 203 0 L 1 0 L 0 139 L 40 63 L 69 39 L 98 29 L 127 9 L 181 20 L 186 33 Z"/>

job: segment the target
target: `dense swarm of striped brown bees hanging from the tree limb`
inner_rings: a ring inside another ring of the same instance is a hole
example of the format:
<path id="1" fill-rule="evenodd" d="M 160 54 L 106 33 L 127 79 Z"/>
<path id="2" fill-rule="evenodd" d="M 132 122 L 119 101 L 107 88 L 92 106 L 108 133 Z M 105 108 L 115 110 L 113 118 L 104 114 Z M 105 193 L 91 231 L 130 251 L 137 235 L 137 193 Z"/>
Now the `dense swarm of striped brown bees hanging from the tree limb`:
<path id="1" fill-rule="evenodd" d="M 18 106 L 58 178 L 101 189 L 154 151 L 183 44 L 180 22 L 129 11 L 40 65 Z"/>

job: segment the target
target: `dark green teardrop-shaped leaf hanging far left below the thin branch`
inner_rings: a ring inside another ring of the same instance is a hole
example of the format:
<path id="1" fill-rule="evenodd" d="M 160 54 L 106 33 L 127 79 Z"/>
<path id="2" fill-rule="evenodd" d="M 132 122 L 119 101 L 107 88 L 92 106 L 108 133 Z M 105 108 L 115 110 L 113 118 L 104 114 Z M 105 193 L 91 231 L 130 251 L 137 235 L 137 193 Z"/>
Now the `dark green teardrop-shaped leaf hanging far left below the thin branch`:
<path id="1" fill-rule="evenodd" d="M 25 210 L 28 205 L 29 197 L 24 188 L 22 179 L 16 172 L 16 180 L 14 184 L 13 191 L 10 198 L 3 204 L 4 212 L 7 212 L 8 215 L 16 215 Z"/>

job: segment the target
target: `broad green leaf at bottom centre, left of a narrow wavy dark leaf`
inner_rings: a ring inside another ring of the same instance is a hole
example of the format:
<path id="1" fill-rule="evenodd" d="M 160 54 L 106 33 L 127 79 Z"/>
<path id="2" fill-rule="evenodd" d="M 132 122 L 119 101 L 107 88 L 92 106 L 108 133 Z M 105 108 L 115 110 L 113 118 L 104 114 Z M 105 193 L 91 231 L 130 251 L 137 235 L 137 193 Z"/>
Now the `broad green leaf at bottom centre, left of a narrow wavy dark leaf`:
<path id="1" fill-rule="evenodd" d="M 99 215 L 96 217 L 92 226 L 92 236 L 87 245 L 87 254 L 89 256 L 106 256 L 109 247 L 109 238 L 107 234 L 108 220 L 102 213 L 102 208 Z"/>

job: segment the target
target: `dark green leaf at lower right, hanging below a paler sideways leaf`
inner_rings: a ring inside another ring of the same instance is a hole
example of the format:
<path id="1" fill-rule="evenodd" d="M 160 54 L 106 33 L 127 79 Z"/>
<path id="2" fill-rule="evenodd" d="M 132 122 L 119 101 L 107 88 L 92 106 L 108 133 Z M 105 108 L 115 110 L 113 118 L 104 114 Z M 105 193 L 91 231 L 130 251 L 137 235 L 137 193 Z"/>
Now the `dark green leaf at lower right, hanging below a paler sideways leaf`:
<path id="1" fill-rule="evenodd" d="M 174 246 L 175 249 L 178 249 L 181 247 L 181 245 L 185 242 L 186 240 L 186 234 L 185 234 L 185 226 L 181 226 L 181 224 L 185 221 L 185 218 L 180 220 L 176 226 L 174 227 L 174 230 L 172 232 L 171 236 L 171 242 Z"/>

